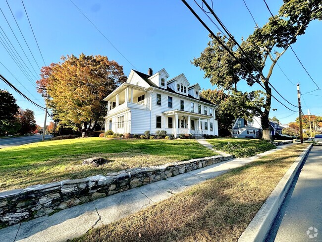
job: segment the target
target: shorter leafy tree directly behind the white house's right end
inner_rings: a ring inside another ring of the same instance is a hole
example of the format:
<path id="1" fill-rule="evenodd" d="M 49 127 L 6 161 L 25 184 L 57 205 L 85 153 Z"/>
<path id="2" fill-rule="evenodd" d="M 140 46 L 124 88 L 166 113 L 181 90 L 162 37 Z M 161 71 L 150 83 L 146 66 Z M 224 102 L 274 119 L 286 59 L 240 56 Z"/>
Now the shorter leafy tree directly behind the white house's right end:
<path id="1" fill-rule="evenodd" d="M 257 112 L 250 112 L 250 110 L 260 110 L 264 102 L 263 97 L 255 92 L 224 92 L 207 89 L 202 90 L 200 96 L 217 105 L 215 115 L 218 121 L 219 136 L 231 135 L 232 124 L 238 117 L 249 119 L 258 115 Z"/>

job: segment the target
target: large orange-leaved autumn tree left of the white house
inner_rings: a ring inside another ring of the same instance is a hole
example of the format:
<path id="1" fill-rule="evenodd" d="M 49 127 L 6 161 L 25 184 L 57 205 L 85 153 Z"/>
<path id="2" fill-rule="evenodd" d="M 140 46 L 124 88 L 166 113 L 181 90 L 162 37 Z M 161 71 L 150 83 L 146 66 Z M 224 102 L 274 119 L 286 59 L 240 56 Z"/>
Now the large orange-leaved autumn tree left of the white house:
<path id="1" fill-rule="evenodd" d="M 87 132 L 107 112 L 103 99 L 126 81 L 123 67 L 104 56 L 61 57 L 41 69 L 38 91 L 49 95 L 48 105 L 60 124 Z"/>

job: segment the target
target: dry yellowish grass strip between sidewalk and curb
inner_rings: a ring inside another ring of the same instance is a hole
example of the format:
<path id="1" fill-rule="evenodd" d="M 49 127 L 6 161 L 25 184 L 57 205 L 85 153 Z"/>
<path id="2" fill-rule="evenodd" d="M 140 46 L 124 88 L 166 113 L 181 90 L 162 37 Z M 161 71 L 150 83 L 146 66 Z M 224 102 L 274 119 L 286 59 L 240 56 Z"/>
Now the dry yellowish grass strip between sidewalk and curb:
<path id="1" fill-rule="evenodd" d="M 307 146 L 276 151 L 73 241 L 237 241 Z"/>

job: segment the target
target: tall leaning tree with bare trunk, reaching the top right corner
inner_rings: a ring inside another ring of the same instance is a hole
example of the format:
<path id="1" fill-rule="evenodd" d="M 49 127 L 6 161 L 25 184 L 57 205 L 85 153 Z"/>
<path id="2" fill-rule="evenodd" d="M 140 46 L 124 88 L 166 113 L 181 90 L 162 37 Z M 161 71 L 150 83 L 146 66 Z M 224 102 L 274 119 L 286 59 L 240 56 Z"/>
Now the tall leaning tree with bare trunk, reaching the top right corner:
<path id="1" fill-rule="evenodd" d="M 226 90 L 237 90 L 237 84 L 241 80 L 246 81 L 249 86 L 261 82 L 265 87 L 266 99 L 259 113 L 262 119 L 263 138 L 270 139 L 268 116 L 272 97 L 268 81 L 276 62 L 289 48 L 289 44 L 295 43 L 298 36 L 303 35 L 308 24 L 315 19 L 322 19 L 321 0 L 284 0 L 274 18 L 270 17 L 263 27 L 258 27 L 246 40 L 242 39 L 241 47 L 264 73 L 265 78 L 250 64 L 231 39 L 226 39 L 220 34 L 217 34 L 217 37 L 241 60 L 255 76 L 255 80 L 211 35 L 208 47 L 192 62 L 205 71 L 205 77 L 210 78 L 213 85 Z M 233 49 L 234 47 L 237 50 Z M 271 54 L 272 52 L 275 56 Z"/>

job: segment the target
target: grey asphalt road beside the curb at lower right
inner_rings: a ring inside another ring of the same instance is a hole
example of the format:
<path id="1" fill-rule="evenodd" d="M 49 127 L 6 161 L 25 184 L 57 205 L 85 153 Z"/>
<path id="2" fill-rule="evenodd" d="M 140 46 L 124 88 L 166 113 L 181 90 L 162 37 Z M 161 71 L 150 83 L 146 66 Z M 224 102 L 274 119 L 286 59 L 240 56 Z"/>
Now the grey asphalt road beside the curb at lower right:
<path id="1" fill-rule="evenodd" d="M 322 241 L 322 146 L 314 146 L 276 215 L 266 242 Z"/>

